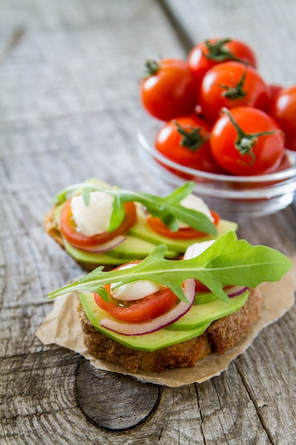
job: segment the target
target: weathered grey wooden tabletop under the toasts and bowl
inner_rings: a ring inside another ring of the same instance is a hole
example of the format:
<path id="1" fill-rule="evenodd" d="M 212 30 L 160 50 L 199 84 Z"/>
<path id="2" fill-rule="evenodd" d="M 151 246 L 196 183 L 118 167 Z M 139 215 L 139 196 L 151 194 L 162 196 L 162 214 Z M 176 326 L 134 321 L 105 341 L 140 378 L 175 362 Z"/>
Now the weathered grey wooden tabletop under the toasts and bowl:
<path id="1" fill-rule="evenodd" d="M 295 307 L 221 376 L 180 388 L 35 337 L 48 291 L 82 273 L 44 233 L 53 195 L 89 176 L 163 192 L 136 153 L 144 60 L 238 37 L 270 82 L 292 85 L 295 17 L 294 0 L 0 0 L 1 444 L 295 443 Z M 295 256 L 295 212 L 239 236 Z"/>

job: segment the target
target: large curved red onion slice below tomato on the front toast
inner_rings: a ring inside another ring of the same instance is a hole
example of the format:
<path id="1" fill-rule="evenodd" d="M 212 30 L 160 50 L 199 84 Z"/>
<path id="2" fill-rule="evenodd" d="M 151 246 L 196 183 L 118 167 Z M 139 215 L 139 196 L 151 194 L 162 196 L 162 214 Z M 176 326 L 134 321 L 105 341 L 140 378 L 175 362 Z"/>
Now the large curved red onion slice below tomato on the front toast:
<path id="1" fill-rule="evenodd" d="M 143 334 L 158 331 L 161 328 L 165 328 L 165 326 L 175 323 L 190 310 L 195 297 L 195 280 L 191 278 L 186 279 L 183 283 L 183 291 L 189 303 L 180 301 L 174 309 L 153 320 L 144 321 L 143 323 L 120 323 L 119 321 L 104 318 L 100 325 L 103 328 L 109 329 L 109 331 L 114 331 L 124 336 L 143 336 Z"/>

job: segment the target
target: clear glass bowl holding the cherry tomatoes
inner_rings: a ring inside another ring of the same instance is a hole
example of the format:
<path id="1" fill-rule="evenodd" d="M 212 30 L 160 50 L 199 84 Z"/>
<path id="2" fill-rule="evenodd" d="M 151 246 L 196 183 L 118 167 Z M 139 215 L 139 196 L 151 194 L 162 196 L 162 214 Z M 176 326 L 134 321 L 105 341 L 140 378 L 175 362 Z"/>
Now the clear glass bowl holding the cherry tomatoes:
<path id="1" fill-rule="evenodd" d="M 154 148 L 164 122 L 143 113 L 138 125 L 138 151 L 158 181 L 170 188 L 194 181 L 198 195 L 222 218 L 239 220 L 276 213 L 296 197 L 296 151 L 287 150 L 291 167 L 262 176 L 231 176 L 206 173 L 181 166 Z"/>

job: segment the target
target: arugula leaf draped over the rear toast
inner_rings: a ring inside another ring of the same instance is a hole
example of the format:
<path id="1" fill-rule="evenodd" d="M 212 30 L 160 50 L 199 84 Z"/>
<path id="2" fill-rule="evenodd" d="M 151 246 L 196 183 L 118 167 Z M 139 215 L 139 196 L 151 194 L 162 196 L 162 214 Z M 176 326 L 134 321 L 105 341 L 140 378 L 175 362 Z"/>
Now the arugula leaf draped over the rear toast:
<path id="1" fill-rule="evenodd" d="M 89 203 L 89 193 L 91 191 L 103 191 L 113 195 L 113 213 L 109 225 L 109 232 L 115 230 L 124 220 L 124 203 L 136 201 L 143 204 L 150 215 L 160 218 L 163 223 L 173 232 L 178 229 L 178 220 L 190 225 L 200 232 L 216 235 L 216 227 L 209 218 L 202 212 L 188 209 L 180 204 L 183 198 L 189 195 L 194 188 L 194 182 L 189 181 L 177 188 L 165 197 L 150 195 L 149 193 L 138 193 L 125 191 L 117 188 L 108 188 L 95 183 L 78 183 L 64 188 L 55 196 L 55 204 L 60 204 L 67 199 L 70 193 L 82 193 L 84 203 Z"/>

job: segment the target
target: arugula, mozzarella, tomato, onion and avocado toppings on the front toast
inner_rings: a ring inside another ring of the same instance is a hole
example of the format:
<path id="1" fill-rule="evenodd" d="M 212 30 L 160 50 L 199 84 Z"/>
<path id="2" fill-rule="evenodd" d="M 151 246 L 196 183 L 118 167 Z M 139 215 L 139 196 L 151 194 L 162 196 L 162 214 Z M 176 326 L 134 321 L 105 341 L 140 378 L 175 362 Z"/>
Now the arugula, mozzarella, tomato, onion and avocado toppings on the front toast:
<path id="1" fill-rule="evenodd" d="M 248 299 L 248 289 L 263 281 L 278 281 L 291 267 L 285 255 L 270 247 L 237 240 L 234 232 L 193 245 L 182 260 L 165 259 L 165 250 L 160 245 L 141 262 L 110 272 L 98 267 L 49 296 L 79 291 L 82 306 L 97 331 L 131 348 L 139 348 L 135 336 L 152 336 L 163 329 L 170 331 L 173 344 L 175 332 L 186 331 L 186 338 L 201 335 L 209 323 L 238 311 Z M 150 293 L 147 280 L 159 288 Z M 133 284 L 141 281 L 146 283 L 143 298 L 126 298 L 129 291 L 133 293 Z M 199 284 L 207 291 L 200 292 Z M 124 296 L 116 300 L 111 289 L 114 293 L 120 288 Z M 175 338 L 183 341 L 184 336 L 176 334 Z M 149 344 L 153 348 L 151 341 Z M 155 343 L 155 349 L 158 347 Z"/>

